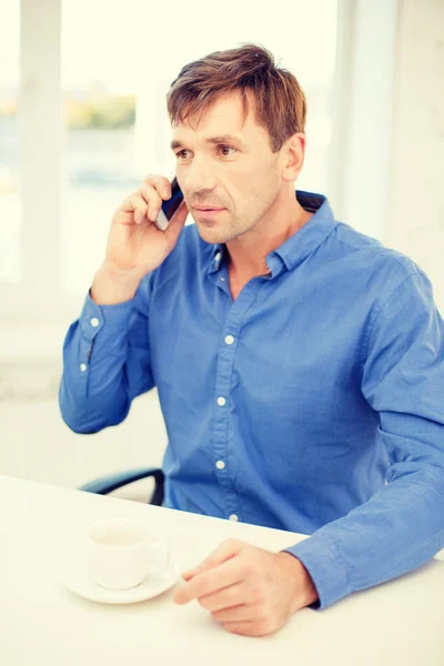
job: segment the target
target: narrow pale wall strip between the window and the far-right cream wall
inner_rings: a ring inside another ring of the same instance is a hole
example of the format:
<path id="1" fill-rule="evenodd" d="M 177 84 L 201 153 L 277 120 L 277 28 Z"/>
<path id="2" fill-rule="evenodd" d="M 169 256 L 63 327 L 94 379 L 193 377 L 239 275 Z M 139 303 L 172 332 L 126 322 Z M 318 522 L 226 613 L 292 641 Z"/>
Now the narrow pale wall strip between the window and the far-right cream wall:
<path id="1" fill-rule="evenodd" d="M 383 239 L 398 0 L 340 0 L 331 201 L 336 219 Z"/>

